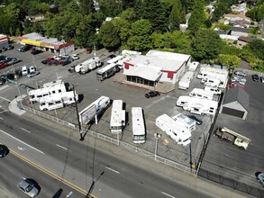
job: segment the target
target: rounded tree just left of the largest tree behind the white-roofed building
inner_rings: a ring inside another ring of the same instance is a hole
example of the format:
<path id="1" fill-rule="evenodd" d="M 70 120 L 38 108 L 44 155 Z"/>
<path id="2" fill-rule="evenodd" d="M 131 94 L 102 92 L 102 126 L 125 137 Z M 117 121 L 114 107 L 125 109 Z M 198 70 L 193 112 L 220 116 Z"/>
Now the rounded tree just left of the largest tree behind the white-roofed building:
<path id="1" fill-rule="evenodd" d="M 106 49 L 117 49 L 121 42 L 119 31 L 112 22 L 106 22 L 99 31 L 99 39 Z"/>

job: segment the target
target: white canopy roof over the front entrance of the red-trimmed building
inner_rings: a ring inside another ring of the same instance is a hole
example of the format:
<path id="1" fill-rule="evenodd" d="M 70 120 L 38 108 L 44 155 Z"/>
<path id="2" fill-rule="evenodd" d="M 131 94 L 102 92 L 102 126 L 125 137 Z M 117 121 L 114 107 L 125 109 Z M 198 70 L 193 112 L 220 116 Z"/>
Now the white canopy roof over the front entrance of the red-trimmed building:
<path id="1" fill-rule="evenodd" d="M 124 75 L 139 76 L 150 81 L 156 81 L 158 80 L 159 76 L 161 76 L 161 72 L 160 68 L 157 67 L 141 66 L 132 67 L 131 69 L 126 71 Z"/>

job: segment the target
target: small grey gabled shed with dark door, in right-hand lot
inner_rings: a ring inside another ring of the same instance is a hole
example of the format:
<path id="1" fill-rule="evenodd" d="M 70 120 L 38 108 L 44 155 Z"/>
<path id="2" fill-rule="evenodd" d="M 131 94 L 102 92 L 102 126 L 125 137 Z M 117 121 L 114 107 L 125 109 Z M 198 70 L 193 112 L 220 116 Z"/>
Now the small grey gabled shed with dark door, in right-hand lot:
<path id="1" fill-rule="evenodd" d="M 249 109 L 250 95 L 240 86 L 236 86 L 224 94 L 219 112 L 246 120 Z"/>

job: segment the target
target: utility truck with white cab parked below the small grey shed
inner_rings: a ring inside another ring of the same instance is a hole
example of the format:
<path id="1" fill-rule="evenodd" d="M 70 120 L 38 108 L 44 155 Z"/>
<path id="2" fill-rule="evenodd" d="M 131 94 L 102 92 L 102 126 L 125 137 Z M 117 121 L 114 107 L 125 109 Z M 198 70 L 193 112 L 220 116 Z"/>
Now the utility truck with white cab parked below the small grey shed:
<path id="1" fill-rule="evenodd" d="M 214 130 L 214 136 L 217 136 L 221 140 L 230 141 L 233 145 L 245 150 L 251 142 L 251 139 L 248 139 L 233 130 L 229 130 L 226 127 L 217 127 L 216 130 Z"/>

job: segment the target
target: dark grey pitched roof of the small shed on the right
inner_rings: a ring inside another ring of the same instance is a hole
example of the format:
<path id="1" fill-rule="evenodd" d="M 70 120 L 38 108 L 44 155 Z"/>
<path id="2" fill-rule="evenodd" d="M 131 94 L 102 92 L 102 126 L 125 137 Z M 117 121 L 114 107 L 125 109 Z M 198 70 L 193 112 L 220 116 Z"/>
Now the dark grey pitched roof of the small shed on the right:
<path id="1" fill-rule="evenodd" d="M 223 99 L 223 104 L 239 102 L 241 105 L 249 111 L 250 109 L 250 95 L 247 94 L 240 86 L 236 86 L 226 91 Z"/>

